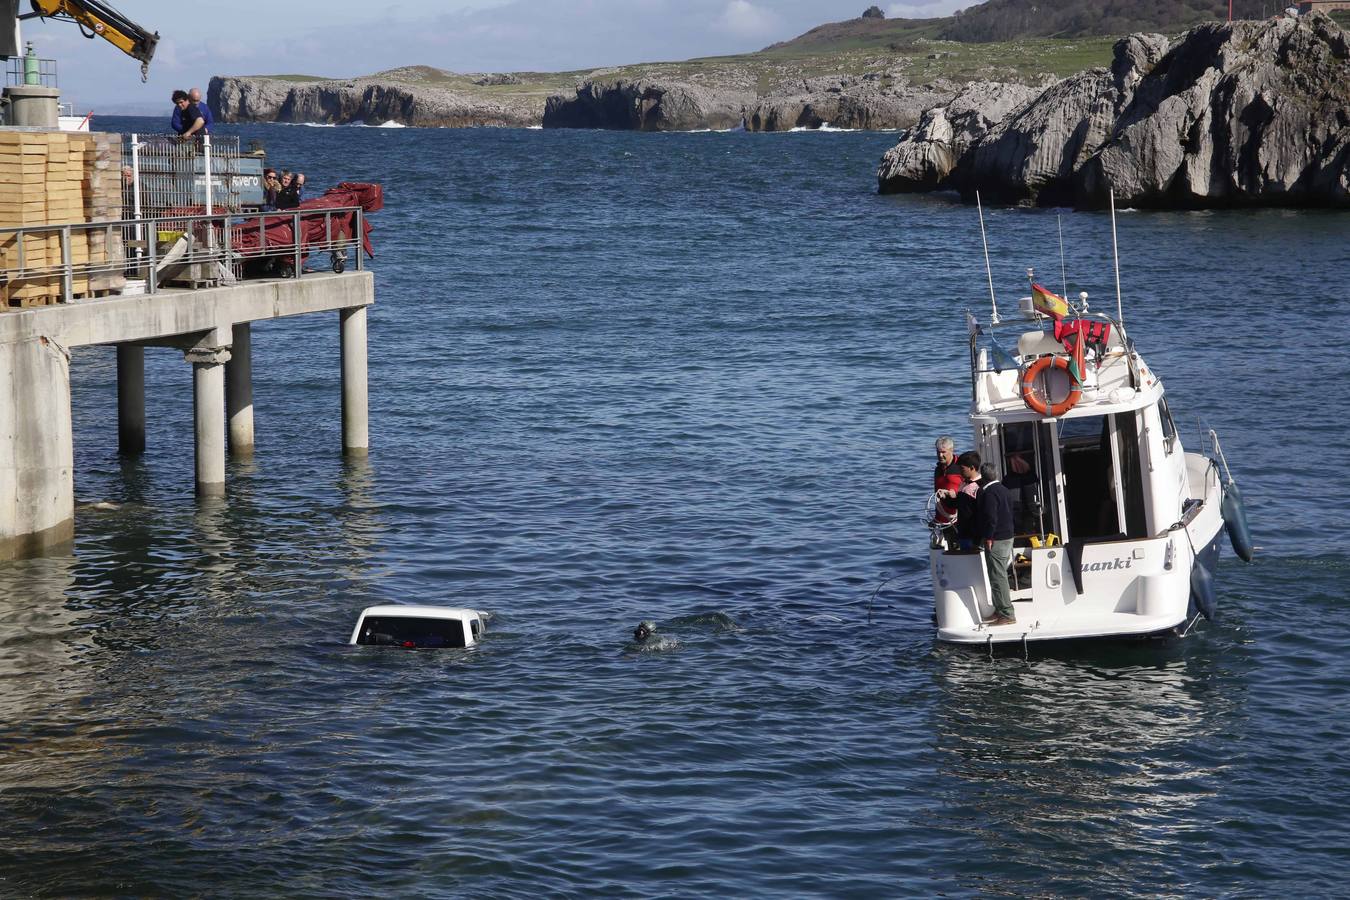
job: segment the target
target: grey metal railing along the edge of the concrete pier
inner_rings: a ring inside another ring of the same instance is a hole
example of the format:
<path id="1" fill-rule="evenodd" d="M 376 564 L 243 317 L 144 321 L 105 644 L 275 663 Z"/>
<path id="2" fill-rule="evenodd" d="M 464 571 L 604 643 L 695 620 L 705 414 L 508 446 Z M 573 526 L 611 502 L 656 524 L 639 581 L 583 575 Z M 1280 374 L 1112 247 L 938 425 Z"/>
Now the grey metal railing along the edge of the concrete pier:
<path id="1" fill-rule="evenodd" d="M 4 308 L 45 306 L 289 278 L 316 254 L 336 273 L 348 262 L 360 270 L 363 236 L 360 206 L 0 228 L 0 298 Z"/>

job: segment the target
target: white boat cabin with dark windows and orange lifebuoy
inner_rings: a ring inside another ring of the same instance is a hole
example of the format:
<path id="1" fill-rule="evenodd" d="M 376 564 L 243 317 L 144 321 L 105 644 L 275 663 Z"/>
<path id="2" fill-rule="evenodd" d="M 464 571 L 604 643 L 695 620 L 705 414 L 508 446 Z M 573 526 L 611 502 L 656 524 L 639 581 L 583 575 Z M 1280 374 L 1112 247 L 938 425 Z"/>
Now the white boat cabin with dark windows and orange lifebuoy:
<path id="1" fill-rule="evenodd" d="M 1185 452 L 1161 381 L 1133 351 L 1120 324 L 1100 314 L 1103 339 L 1084 352 L 1081 386 L 1062 366 L 1064 343 L 1049 325 L 981 325 L 971 335 L 971 421 L 976 449 L 1013 495 L 1019 536 L 1060 544 L 1142 540 L 1181 518 Z M 1008 333 L 1011 332 L 1011 339 Z M 1004 341 L 1017 355 L 1003 351 Z M 1061 406 L 1057 416 L 1033 409 Z"/>

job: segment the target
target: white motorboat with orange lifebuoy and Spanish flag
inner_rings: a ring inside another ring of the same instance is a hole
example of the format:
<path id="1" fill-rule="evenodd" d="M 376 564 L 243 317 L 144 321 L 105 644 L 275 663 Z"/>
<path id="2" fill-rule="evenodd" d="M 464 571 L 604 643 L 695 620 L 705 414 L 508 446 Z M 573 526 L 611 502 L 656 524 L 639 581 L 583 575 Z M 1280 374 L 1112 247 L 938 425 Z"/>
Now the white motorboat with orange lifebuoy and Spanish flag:
<path id="1" fill-rule="evenodd" d="M 1214 615 L 1226 514 L 1239 555 L 1251 552 L 1218 436 L 1210 432 L 1215 459 L 1183 448 L 1162 379 L 1119 316 L 1088 312 L 1087 294 L 1071 309 L 1035 290 L 1017 320 L 968 314 L 973 449 L 1011 494 L 1017 621 L 984 622 L 994 614 L 986 553 L 949 548 L 930 519 L 937 637 L 992 645 L 1183 636 Z M 1066 314 L 1040 312 L 1046 297 Z M 1075 356 L 1085 371 L 1073 370 Z"/>

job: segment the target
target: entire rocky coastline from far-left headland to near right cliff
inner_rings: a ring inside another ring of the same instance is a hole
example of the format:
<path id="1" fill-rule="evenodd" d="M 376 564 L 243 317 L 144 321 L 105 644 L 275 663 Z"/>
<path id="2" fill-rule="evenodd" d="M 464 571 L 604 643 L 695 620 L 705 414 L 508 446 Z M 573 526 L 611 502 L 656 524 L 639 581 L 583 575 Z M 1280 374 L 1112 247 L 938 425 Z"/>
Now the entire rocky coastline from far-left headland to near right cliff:
<path id="1" fill-rule="evenodd" d="M 524 73 L 522 73 L 524 74 Z M 786 77 L 409 67 L 347 81 L 215 77 L 221 121 L 701 131 L 899 130 L 880 193 L 1076 208 L 1350 206 L 1350 38 L 1323 13 L 1137 34 L 1110 67 L 1031 86 L 900 72 Z"/>

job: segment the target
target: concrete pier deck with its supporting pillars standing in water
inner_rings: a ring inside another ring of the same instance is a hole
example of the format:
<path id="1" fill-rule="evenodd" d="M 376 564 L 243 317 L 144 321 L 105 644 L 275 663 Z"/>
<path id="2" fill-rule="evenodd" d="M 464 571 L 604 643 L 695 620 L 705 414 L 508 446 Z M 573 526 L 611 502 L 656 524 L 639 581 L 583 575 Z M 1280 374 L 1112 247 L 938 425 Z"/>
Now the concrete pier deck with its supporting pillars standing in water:
<path id="1" fill-rule="evenodd" d="M 371 273 L 348 271 L 0 312 L 0 559 L 50 552 L 74 536 L 70 348 L 119 345 L 120 448 L 144 447 L 140 345 L 182 348 L 193 364 L 197 493 L 219 497 L 225 486 L 225 367 L 236 325 L 251 337 L 248 322 L 340 312 L 343 449 L 364 456 L 370 447 L 364 308 L 373 302 Z M 251 370 L 251 352 L 240 358 Z M 251 378 L 240 375 L 238 385 L 248 385 L 251 394 Z M 248 410 L 251 447 L 252 403 L 243 398 L 235 394 L 230 409 Z"/>

